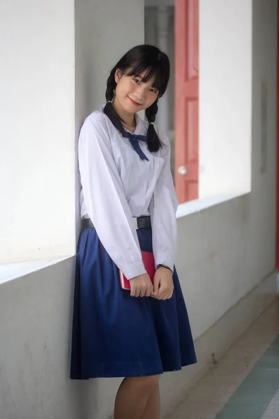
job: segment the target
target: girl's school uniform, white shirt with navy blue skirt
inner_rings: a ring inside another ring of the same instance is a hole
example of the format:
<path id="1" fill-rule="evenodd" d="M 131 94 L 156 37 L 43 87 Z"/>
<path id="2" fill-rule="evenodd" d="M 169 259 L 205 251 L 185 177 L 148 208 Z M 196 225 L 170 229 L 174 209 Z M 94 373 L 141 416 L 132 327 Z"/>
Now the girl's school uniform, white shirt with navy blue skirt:
<path id="1" fill-rule="evenodd" d="M 149 152 L 149 124 L 135 118 L 133 135 L 126 130 L 130 138 L 103 107 L 80 131 L 81 216 L 94 228 L 82 230 L 77 248 L 71 378 L 148 376 L 196 362 L 174 267 L 178 203 L 169 140 L 156 128 L 163 147 Z M 151 228 L 136 228 L 135 219 L 144 216 Z M 153 251 L 156 265 L 172 269 L 169 300 L 130 297 L 121 288 L 119 268 L 128 279 L 146 272 L 141 251 Z"/>

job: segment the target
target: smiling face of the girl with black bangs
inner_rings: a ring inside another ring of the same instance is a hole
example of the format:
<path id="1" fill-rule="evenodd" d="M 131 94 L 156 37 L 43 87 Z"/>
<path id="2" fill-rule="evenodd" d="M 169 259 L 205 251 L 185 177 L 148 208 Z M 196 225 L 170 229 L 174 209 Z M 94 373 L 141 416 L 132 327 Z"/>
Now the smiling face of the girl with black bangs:
<path id="1" fill-rule="evenodd" d="M 145 72 L 135 77 L 116 70 L 116 97 L 123 110 L 135 114 L 140 110 L 149 108 L 158 98 L 158 90 L 153 87 L 153 80 L 142 82 Z"/>

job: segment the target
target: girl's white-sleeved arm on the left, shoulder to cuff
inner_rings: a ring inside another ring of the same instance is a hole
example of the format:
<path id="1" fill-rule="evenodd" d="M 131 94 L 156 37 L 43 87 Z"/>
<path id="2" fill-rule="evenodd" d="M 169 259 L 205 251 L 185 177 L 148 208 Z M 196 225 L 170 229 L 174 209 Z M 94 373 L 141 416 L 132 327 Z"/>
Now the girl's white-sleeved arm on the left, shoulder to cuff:
<path id="1" fill-rule="evenodd" d="M 146 272 L 123 184 L 112 157 L 105 115 L 88 117 L 78 145 L 86 211 L 100 242 L 126 278 Z"/>

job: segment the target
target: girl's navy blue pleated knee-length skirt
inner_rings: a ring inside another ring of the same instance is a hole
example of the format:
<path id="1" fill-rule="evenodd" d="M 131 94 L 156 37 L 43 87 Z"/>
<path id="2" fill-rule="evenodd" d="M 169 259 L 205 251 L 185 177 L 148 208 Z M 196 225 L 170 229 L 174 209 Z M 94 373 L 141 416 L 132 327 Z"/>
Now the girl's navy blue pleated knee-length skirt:
<path id="1" fill-rule="evenodd" d="M 152 251 L 151 228 L 137 230 Z M 77 248 L 70 378 L 149 376 L 197 362 L 186 304 L 174 270 L 174 294 L 163 301 L 130 297 L 96 230 Z"/>

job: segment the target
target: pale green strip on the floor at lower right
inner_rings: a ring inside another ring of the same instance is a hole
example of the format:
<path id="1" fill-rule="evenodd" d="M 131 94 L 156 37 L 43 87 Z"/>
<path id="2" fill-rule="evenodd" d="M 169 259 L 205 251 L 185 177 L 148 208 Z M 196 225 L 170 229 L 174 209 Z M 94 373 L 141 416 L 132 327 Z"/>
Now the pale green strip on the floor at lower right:
<path id="1" fill-rule="evenodd" d="M 229 398 L 216 419 L 261 419 L 278 389 L 279 336 Z"/>

